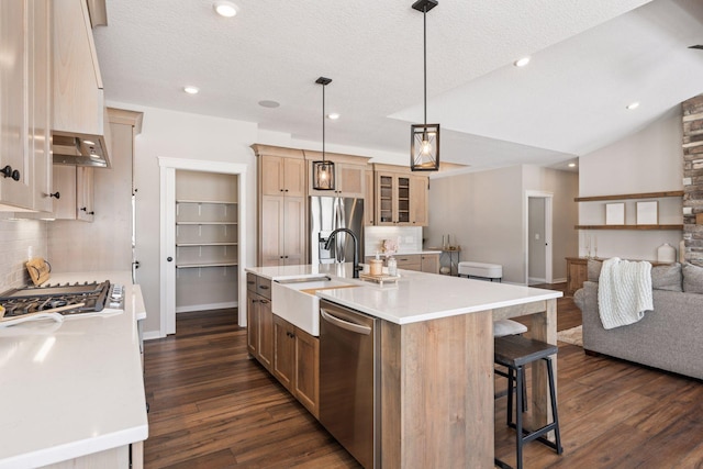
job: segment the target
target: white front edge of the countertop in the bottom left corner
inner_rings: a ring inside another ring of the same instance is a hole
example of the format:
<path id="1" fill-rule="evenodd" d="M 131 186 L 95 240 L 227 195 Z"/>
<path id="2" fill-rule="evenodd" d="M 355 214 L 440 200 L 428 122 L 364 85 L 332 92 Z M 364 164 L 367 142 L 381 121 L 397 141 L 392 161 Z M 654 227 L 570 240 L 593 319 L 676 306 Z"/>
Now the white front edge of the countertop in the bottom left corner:
<path id="1" fill-rule="evenodd" d="M 148 424 L 145 422 L 141 426 L 100 435 L 90 439 L 52 446 L 30 454 L 10 456 L 0 460 L 0 469 L 31 469 L 64 462 L 136 442 L 144 442 L 147 437 Z"/>

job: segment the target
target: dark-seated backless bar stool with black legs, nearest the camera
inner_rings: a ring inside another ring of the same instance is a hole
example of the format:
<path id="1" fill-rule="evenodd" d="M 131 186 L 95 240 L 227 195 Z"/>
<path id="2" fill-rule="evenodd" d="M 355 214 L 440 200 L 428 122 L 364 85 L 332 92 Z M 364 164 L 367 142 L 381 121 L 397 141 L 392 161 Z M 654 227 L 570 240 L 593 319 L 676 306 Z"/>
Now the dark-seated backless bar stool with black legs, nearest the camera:
<path id="1" fill-rule="evenodd" d="M 515 381 L 515 389 L 525 389 L 525 365 L 537 360 L 545 360 L 547 364 L 547 376 L 549 381 L 549 398 L 551 401 L 553 421 L 542 428 L 526 431 L 523 428 L 523 410 L 525 407 L 525 393 L 507 393 L 507 425 L 515 428 L 517 440 L 515 454 L 517 469 L 523 467 L 523 445 L 537 439 L 557 451 L 563 453 L 561 447 L 561 436 L 559 434 L 559 416 L 557 413 L 557 397 L 555 390 L 554 368 L 551 366 L 551 355 L 557 354 L 557 346 L 544 342 L 526 338 L 520 335 L 507 335 L 494 338 L 494 361 L 498 365 L 507 367 L 509 389 Z M 515 422 L 513 422 L 513 395 L 516 399 Z M 555 442 L 546 438 L 546 435 L 554 431 Z M 495 458 L 495 465 L 501 468 L 510 468 L 509 465 Z"/>

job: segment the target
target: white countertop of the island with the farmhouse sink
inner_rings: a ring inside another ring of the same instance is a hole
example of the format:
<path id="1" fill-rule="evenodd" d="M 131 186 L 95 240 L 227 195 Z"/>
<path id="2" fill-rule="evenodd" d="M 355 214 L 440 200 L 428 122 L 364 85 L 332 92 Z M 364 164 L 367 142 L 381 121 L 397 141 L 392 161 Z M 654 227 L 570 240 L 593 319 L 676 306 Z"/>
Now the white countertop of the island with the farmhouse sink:
<path id="1" fill-rule="evenodd" d="M 254 267 L 247 271 L 271 280 L 327 275 L 359 288 L 317 291 L 317 297 L 390 321 L 410 324 L 562 297 L 560 291 L 399 269 L 395 283 L 379 286 L 352 278 L 350 264 Z"/>

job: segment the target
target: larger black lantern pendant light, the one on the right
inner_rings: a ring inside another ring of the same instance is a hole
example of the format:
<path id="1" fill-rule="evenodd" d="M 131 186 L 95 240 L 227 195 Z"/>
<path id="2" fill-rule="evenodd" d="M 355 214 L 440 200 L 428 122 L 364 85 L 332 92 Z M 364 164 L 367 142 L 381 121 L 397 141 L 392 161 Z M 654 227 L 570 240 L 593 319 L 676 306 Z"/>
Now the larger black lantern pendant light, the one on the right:
<path id="1" fill-rule="evenodd" d="M 422 11 L 425 123 L 413 124 L 410 130 L 410 169 L 437 171 L 439 169 L 439 124 L 427 124 L 427 12 L 437 0 L 417 0 L 413 9 Z"/>

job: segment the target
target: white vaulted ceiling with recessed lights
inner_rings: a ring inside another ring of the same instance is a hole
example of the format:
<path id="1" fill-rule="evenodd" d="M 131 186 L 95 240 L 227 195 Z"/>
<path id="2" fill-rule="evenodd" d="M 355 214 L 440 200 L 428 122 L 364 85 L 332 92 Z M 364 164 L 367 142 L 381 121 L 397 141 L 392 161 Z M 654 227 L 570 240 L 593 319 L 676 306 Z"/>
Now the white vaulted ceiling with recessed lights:
<path id="1" fill-rule="evenodd" d="M 342 115 L 327 121 L 328 147 L 409 154 L 410 124 L 423 121 L 412 1 L 234 0 L 232 19 L 213 2 L 108 0 L 108 26 L 94 30 L 107 98 L 320 143 L 325 76 L 326 110 Z M 693 44 L 701 0 L 439 0 L 427 13 L 427 118 L 442 124 L 442 159 L 562 168 L 703 92 Z"/>

